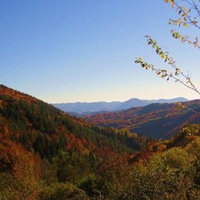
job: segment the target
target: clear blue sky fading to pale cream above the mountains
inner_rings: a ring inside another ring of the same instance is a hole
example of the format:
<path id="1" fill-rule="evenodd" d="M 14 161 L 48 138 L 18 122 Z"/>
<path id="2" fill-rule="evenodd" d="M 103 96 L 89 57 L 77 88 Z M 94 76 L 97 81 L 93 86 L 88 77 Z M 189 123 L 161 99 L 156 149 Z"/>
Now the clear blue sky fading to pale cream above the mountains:
<path id="1" fill-rule="evenodd" d="M 200 88 L 199 51 L 170 36 L 176 16 L 163 0 L 0 0 L 0 83 L 49 103 L 199 98 L 134 63 L 168 67 L 151 35 Z"/>

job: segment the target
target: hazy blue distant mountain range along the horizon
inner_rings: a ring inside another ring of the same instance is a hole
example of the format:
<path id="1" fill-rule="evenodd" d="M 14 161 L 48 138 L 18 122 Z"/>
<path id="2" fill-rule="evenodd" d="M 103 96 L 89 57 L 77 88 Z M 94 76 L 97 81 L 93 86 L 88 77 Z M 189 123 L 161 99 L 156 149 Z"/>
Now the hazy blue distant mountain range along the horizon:
<path id="1" fill-rule="evenodd" d="M 176 103 L 188 101 L 186 98 L 178 97 L 173 99 L 158 99 L 158 100 L 142 100 L 132 98 L 124 102 L 77 102 L 77 103 L 55 103 L 53 106 L 59 108 L 62 111 L 68 112 L 72 115 L 86 115 L 97 112 L 113 112 L 126 110 L 133 107 L 147 106 L 152 103 Z"/>

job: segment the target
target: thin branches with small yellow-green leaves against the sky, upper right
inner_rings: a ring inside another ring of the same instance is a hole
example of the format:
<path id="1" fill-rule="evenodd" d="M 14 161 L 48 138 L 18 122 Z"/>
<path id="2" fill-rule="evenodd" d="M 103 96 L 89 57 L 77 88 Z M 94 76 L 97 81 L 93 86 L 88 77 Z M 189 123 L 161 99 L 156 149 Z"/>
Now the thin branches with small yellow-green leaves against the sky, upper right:
<path id="1" fill-rule="evenodd" d="M 180 5 L 180 2 L 176 0 L 165 0 L 165 2 L 170 3 L 173 8 L 176 8 L 178 15 L 180 16 L 178 19 L 170 19 L 169 24 L 178 27 L 193 26 L 197 29 L 200 29 L 200 26 L 198 25 L 200 17 L 198 2 L 194 0 L 183 0 L 183 5 Z M 180 39 L 183 43 L 187 42 L 188 44 L 192 44 L 194 47 L 200 49 L 198 37 L 196 37 L 194 40 L 191 40 L 188 35 L 183 36 L 181 33 L 175 30 L 171 30 L 171 35 L 175 39 Z M 154 71 L 161 78 L 166 78 L 167 80 L 174 79 L 175 82 L 179 82 L 187 88 L 192 89 L 196 93 L 200 94 L 199 90 L 192 82 L 191 76 L 181 71 L 180 67 L 177 66 L 174 58 L 169 56 L 169 52 L 163 51 L 161 47 L 157 44 L 157 41 L 153 40 L 150 36 L 147 35 L 146 37 L 148 45 L 152 46 L 152 48 L 155 49 L 157 55 L 160 56 L 163 61 L 171 67 L 172 70 L 169 71 L 165 68 L 156 68 L 154 65 L 145 62 L 141 57 L 136 59 L 135 63 L 140 64 L 146 70 L 150 69 Z"/>

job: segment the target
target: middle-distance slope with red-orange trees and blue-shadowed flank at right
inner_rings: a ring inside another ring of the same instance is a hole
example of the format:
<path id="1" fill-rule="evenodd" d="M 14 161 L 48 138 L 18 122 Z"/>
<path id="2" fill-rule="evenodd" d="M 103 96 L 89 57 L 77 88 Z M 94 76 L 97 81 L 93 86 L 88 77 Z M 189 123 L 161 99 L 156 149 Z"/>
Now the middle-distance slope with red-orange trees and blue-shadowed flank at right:
<path id="1" fill-rule="evenodd" d="M 182 104 L 200 112 L 200 100 Z M 125 128 L 157 139 L 169 138 L 187 124 L 200 123 L 199 114 L 188 109 L 179 110 L 175 103 L 150 104 L 121 112 L 87 116 L 84 119 L 93 124 Z"/>

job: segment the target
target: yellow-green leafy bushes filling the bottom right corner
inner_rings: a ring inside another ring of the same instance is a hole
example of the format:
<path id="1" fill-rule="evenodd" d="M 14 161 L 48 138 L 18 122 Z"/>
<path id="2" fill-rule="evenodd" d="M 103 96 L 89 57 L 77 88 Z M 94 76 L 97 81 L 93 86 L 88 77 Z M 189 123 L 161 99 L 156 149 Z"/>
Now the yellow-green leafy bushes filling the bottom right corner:
<path id="1" fill-rule="evenodd" d="M 111 170 L 109 180 L 115 180 L 110 181 L 111 199 L 199 199 L 196 171 L 186 149 L 172 148 L 153 155 L 146 163 L 123 168 L 120 173 Z"/>

